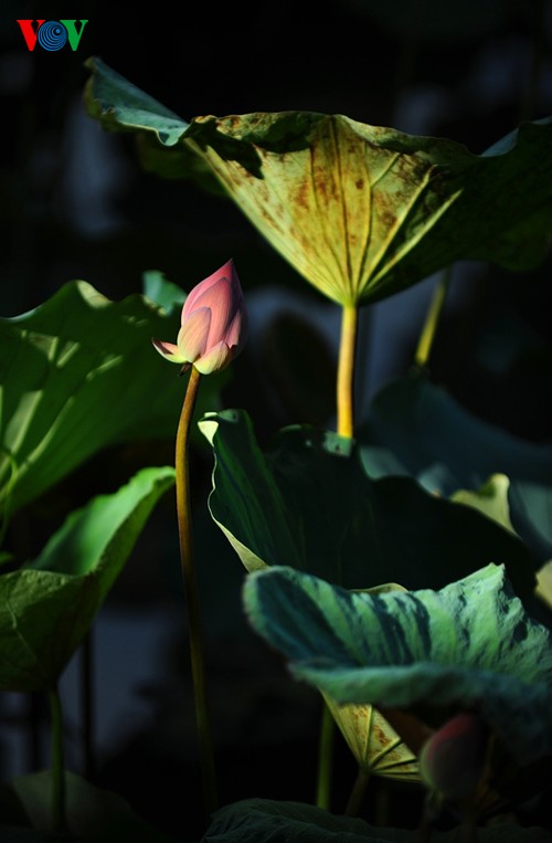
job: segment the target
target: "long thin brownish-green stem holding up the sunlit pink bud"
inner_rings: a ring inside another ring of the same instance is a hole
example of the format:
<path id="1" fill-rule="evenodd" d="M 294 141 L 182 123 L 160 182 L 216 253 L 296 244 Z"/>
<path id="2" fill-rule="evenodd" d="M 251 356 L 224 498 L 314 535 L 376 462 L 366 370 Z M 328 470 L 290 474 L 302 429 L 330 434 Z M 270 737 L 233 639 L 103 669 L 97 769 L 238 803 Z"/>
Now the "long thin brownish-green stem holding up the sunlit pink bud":
<path id="1" fill-rule="evenodd" d="M 199 754 L 203 782 L 203 799 L 205 811 L 208 815 L 210 815 L 216 809 L 216 776 L 211 738 L 211 721 L 208 706 L 205 656 L 203 652 L 203 635 L 201 630 L 200 600 L 198 580 L 195 576 L 195 566 L 193 562 L 192 509 L 190 500 L 190 476 L 188 466 L 190 428 L 193 408 L 198 397 L 200 379 L 200 372 L 198 369 L 195 369 L 195 367 L 192 366 L 177 431 L 176 470 L 180 560 L 182 566 L 184 597 L 188 610 L 188 632 L 190 639 L 190 657 L 195 704 L 195 721 L 198 726 Z"/>

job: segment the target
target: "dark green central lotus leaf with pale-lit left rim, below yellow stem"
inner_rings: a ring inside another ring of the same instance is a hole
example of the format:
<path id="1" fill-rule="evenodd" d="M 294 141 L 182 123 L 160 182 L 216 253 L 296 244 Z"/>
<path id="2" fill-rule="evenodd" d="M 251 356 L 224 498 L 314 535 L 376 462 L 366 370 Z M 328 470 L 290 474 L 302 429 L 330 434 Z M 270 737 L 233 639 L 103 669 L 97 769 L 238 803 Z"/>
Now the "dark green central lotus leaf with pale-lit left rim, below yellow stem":
<path id="1" fill-rule="evenodd" d="M 291 426 L 263 452 L 242 411 L 206 413 L 199 425 L 215 456 L 211 515 L 248 571 L 288 565 L 346 588 L 414 589 L 493 561 L 518 593 L 534 587 L 518 537 L 410 477 L 372 480 L 351 440 Z"/>

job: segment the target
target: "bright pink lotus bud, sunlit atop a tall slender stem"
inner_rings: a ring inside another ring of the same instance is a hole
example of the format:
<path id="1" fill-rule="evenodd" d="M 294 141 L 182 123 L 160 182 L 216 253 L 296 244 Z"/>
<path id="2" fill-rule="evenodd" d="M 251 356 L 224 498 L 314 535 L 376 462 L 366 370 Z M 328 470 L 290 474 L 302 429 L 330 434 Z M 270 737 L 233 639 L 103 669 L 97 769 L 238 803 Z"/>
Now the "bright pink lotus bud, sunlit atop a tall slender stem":
<path id="1" fill-rule="evenodd" d="M 224 369 L 240 354 L 247 334 L 247 314 L 240 278 L 231 259 L 197 284 L 182 307 L 177 345 L 152 339 L 167 360 L 194 366 L 202 375 Z"/>

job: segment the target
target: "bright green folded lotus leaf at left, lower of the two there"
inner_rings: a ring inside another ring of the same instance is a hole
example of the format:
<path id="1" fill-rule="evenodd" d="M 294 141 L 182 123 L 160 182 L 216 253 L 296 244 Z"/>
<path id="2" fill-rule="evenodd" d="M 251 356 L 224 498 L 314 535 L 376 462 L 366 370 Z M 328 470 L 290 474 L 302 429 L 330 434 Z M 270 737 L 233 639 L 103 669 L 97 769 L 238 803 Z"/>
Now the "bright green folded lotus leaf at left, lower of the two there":
<path id="1" fill-rule="evenodd" d="M 72 513 L 36 559 L 0 576 L 1 691 L 55 684 L 173 483 L 171 467 L 142 468 Z"/>

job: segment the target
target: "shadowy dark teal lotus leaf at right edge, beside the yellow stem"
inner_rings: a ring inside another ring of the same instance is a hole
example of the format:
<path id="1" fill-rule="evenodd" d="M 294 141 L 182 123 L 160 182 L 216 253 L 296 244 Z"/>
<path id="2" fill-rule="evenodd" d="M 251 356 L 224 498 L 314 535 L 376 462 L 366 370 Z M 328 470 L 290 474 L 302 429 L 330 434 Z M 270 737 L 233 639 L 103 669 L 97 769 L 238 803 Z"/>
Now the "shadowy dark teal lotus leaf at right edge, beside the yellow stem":
<path id="1" fill-rule="evenodd" d="M 424 375 L 385 386 L 358 441 L 371 477 L 410 475 L 446 497 L 506 475 L 513 528 L 541 562 L 552 557 L 551 444 L 478 419 Z"/>

